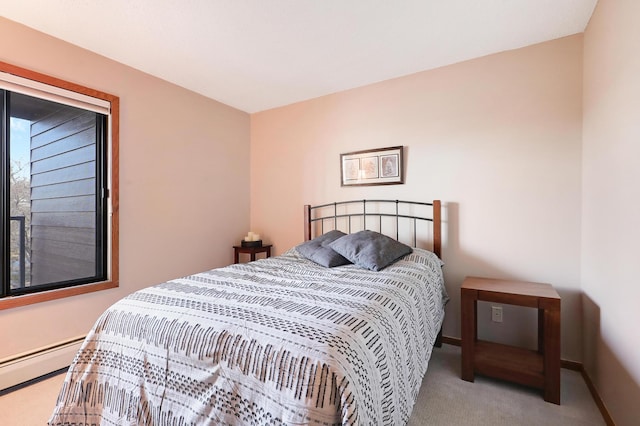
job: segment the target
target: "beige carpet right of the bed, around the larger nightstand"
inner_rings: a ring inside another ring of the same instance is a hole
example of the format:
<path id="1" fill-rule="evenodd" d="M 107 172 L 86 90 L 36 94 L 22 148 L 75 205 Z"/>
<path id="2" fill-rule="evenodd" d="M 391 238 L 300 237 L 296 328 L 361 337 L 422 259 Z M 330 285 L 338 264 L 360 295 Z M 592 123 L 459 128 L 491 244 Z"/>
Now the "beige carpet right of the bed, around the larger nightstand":
<path id="1" fill-rule="evenodd" d="M 460 379 L 460 348 L 435 348 L 422 380 L 409 426 L 418 425 L 604 425 L 582 375 L 562 369 L 562 405 L 545 402 L 541 392 L 476 376 Z"/>

